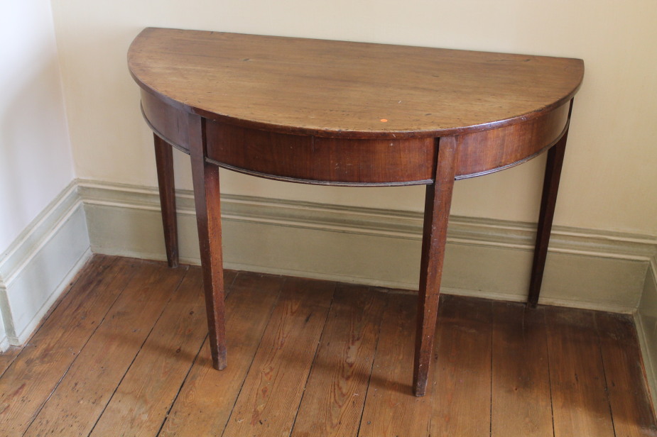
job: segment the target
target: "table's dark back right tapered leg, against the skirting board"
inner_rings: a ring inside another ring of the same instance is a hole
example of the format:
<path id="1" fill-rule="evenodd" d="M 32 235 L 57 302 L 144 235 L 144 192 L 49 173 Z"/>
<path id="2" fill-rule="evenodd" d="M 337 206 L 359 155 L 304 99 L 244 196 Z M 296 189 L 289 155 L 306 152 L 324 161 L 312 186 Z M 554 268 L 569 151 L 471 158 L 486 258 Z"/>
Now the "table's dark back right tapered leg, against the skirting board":
<path id="1" fill-rule="evenodd" d="M 572 102 L 570 104 L 572 109 Z M 570 114 L 568 116 L 570 119 Z M 529 281 L 528 306 L 536 307 L 538 296 L 541 294 L 545 259 L 548 256 L 548 244 L 552 232 L 557 192 L 561 179 L 563 155 L 568 140 L 568 129 L 561 139 L 548 150 L 548 162 L 545 165 L 545 179 L 543 180 L 543 196 L 541 197 L 541 212 L 538 215 L 538 231 L 536 232 L 536 247 L 534 248 L 533 264 L 531 266 L 531 279 Z"/>

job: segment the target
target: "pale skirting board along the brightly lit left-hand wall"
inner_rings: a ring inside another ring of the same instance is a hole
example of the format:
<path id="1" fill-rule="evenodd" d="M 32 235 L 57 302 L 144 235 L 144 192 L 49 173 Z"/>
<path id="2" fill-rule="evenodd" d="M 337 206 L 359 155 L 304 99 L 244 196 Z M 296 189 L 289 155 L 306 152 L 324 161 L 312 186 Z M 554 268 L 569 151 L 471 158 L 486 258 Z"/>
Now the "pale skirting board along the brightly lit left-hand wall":
<path id="1" fill-rule="evenodd" d="M 63 190 L 0 257 L 3 345 L 27 341 L 91 256 L 77 181 Z"/>

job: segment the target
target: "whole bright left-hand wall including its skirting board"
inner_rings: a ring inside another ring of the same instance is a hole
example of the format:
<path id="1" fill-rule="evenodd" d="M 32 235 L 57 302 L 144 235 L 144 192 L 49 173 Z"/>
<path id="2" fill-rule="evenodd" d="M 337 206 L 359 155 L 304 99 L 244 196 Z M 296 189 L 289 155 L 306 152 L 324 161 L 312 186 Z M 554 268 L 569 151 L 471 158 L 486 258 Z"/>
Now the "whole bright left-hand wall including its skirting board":
<path id="1" fill-rule="evenodd" d="M 49 0 L 0 1 L 0 351 L 89 255 Z"/>

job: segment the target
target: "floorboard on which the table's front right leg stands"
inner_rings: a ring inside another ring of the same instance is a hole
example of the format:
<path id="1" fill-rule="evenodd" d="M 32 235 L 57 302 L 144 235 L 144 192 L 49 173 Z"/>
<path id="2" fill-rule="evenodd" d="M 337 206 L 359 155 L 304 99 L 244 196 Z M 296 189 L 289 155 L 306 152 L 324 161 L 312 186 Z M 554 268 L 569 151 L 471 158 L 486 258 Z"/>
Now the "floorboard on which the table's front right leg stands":
<path id="1" fill-rule="evenodd" d="M 429 385 L 424 397 L 415 397 L 412 393 L 417 308 L 417 297 L 412 294 L 391 294 L 389 297 L 381 321 L 359 437 L 429 436 L 432 403 L 440 394 L 434 392 L 433 384 Z"/>

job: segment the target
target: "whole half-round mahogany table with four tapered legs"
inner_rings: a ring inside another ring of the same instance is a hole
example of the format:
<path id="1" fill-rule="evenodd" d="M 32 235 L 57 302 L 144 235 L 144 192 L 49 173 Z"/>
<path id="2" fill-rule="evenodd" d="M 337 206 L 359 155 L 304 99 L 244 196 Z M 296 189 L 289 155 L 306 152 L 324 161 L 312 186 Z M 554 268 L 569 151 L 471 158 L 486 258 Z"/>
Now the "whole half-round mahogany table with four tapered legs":
<path id="1" fill-rule="evenodd" d="M 146 28 L 129 69 L 155 138 L 178 263 L 173 147 L 191 157 L 212 363 L 226 366 L 219 167 L 308 184 L 425 184 L 413 371 L 425 393 L 455 179 L 548 150 L 528 302 L 536 305 L 582 60 Z"/>

